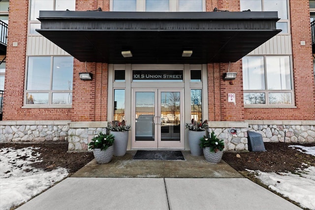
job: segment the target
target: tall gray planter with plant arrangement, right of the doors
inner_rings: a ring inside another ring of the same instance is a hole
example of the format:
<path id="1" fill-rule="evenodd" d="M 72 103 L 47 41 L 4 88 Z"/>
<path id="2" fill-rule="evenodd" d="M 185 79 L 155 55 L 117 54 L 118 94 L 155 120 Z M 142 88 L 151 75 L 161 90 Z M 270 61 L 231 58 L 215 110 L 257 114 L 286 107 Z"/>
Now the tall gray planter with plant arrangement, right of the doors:
<path id="1" fill-rule="evenodd" d="M 191 123 L 186 123 L 188 131 L 188 142 L 190 153 L 193 156 L 202 155 L 202 149 L 199 147 L 200 138 L 206 134 L 208 128 L 208 120 L 204 120 L 202 123 L 198 123 L 195 120 L 191 120 Z"/>

